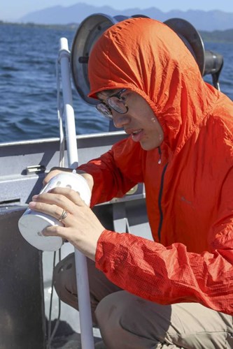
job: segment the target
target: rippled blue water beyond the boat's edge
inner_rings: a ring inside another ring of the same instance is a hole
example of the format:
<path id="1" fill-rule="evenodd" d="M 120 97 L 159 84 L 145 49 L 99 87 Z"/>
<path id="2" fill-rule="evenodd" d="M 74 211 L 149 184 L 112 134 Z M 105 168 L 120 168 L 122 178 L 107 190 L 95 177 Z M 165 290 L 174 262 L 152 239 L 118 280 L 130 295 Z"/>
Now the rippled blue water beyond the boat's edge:
<path id="1" fill-rule="evenodd" d="M 59 38 L 75 31 L 0 25 L 0 142 L 59 137 L 56 61 Z M 233 45 L 205 43 L 224 57 L 220 88 L 233 99 Z M 211 81 L 209 77 L 207 80 Z M 76 133 L 108 130 L 108 121 L 73 89 Z"/>

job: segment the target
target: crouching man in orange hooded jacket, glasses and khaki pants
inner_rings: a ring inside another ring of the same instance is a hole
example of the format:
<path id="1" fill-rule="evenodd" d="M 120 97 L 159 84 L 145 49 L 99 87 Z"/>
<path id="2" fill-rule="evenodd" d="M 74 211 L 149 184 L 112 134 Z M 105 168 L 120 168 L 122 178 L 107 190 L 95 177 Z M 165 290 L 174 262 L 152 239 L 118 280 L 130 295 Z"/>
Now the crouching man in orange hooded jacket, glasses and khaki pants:
<path id="1" fill-rule="evenodd" d="M 232 101 L 203 81 L 169 27 L 148 18 L 108 29 L 88 70 L 97 109 L 129 134 L 78 169 L 91 207 L 143 182 L 154 241 L 106 230 L 67 188 L 29 205 L 57 218 L 68 212 L 64 228 L 44 235 L 90 258 L 93 320 L 106 348 L 233 348 Z M 55 287 L 76 306 L 72 258 L 57 267 Z"/>

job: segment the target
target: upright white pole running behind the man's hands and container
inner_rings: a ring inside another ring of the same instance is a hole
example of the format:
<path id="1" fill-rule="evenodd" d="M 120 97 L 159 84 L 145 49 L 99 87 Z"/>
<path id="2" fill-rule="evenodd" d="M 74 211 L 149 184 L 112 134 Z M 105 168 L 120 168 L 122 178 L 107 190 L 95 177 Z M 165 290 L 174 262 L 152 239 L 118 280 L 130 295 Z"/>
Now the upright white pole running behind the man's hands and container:
<path id="1" fill-rule="evenodd" d="M 78 148 L 76 142 L 76 126 L 73 112 L 73 98 L 70 77 L 70 52 L 66 38 L 59 41 L 59 62 L 62 75 L 62 94 L 64 102 L 64 118 L 66 125 L 66 144 L 69 168 L 78 166 Z M 76 279 L 78 288 L 78 309 L 80 317 L 80 335 L 83 349 L 94 349 L 92 332 L 92 314 L 90 309 L 90 291 L 87 276 L 87 260 L 85 255 L 75 248 Z"/>

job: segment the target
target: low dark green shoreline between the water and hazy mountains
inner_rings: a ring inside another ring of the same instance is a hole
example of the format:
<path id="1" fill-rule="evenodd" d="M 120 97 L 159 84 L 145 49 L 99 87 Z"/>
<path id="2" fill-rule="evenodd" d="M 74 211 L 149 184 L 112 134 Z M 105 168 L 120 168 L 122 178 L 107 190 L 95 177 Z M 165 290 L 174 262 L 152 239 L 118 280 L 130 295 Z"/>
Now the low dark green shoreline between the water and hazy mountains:
<path id="1" fill-rule="evenodd" d="M 78 29 L 78 23 L 71 24 L 36 24 L 36 23 L 19 23 L 19 22 L 4 22 L 0 20 L 0 25 L 15 25 L 20 27 L 34 27 L 45 29 L 66 29 L 70 31 L 76 31 Z M 202 31 L 199 30 L 199 34 L 204 42 L 211 43 L 233 43 L 233 29 L 227 30 L 215 30 L 215 31 Z"/>

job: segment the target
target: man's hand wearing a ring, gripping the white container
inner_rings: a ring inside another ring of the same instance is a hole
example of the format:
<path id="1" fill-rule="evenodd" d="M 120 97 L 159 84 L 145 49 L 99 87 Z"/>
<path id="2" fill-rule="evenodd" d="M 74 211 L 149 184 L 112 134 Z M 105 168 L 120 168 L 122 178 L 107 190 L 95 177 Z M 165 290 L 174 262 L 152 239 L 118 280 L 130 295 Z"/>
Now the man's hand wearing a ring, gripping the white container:
<path id="1" fill-rule="evenodd" d="M 48 193 L 34 195 L 32 200 L 29 207 L 35 211 L 57 219 L 64 211 L 67 213 L 62 219 L 64 226 L 49 226 L 42 231 L 43 235 L 62 237 L 94 260 L 98 239 L 105 228 L 76 191 L 70 188 L 52 188 Z"/>

